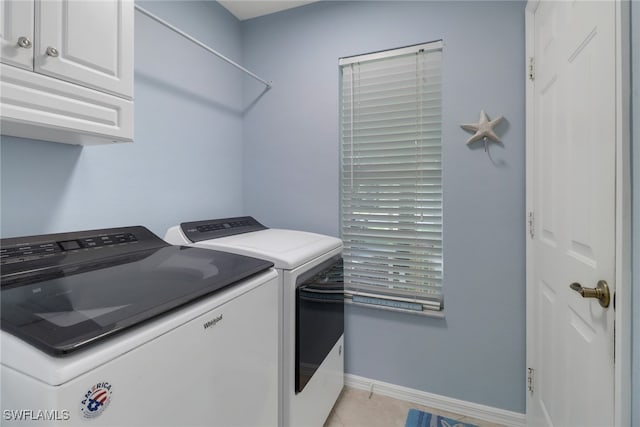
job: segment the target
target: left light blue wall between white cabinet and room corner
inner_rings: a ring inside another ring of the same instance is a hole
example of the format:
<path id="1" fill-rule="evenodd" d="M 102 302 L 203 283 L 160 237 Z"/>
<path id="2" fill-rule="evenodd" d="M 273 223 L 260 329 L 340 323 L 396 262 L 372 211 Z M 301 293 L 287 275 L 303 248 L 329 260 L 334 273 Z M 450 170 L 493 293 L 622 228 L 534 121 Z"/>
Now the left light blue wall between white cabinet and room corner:
<path id="1" fill-rule="evenodd" d="M 240 23 L 216 2 L 142 2 L 241 59 Z M 135 17 L 135 142 L 76 147 L 2 137 L 2 236 L 242 213 L 242 74 Z"/>

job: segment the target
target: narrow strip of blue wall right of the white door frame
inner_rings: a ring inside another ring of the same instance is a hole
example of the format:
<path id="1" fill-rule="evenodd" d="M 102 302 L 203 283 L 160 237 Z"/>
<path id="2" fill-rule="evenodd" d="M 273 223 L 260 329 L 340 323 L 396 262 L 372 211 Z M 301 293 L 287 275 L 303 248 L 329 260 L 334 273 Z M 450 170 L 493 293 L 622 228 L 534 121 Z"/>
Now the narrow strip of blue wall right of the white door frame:
<path id="1" fill-rule="evenodd" d="M 632 303 L 632 386 L 631 425 L 640 426 L 640 2 L 631 2 L 631 126 L 632 126 L 632 198 L 633 198 L 633 303 Z"/>

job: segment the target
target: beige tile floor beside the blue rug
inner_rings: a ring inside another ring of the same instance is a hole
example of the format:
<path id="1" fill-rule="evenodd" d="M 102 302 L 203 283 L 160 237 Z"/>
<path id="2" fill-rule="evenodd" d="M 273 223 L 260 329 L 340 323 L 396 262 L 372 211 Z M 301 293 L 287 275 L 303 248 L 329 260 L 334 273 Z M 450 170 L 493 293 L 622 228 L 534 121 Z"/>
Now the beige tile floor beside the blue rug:
<path id="1" fill-rule="evenodd" d="M 369 398 L 368 391 L 350 387 L 342 390 L 324 427 L 404 427 L 407 413 L 411 408 L 475 424 L 478 427 L 502 427 L 498 424 L 382 396 L 375 392 Z"/>

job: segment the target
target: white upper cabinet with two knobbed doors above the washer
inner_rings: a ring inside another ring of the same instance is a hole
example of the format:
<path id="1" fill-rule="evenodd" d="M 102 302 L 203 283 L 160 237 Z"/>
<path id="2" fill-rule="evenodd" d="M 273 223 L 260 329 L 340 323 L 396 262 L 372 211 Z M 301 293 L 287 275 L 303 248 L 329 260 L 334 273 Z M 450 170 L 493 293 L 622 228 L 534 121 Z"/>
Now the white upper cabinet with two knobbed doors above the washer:
<path id="1" fill-rule="evenodd" d="M 133 140 L 133 0 L 1 0 L 3 135 Z"/>

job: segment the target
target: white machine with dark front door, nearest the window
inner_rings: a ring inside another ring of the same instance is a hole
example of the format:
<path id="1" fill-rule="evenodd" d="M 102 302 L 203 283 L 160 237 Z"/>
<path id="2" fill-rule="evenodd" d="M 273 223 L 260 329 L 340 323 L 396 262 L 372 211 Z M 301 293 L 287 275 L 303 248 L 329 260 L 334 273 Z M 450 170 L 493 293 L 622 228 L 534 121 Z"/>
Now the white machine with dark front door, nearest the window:
<path id="1" fill-rule="evenodd" d="M 342 241 L 251 217 L 182 223 L 165 240 L 265 259 L 281 294 L 280 425 L 321 427 L 344 385 Z"/>

